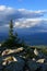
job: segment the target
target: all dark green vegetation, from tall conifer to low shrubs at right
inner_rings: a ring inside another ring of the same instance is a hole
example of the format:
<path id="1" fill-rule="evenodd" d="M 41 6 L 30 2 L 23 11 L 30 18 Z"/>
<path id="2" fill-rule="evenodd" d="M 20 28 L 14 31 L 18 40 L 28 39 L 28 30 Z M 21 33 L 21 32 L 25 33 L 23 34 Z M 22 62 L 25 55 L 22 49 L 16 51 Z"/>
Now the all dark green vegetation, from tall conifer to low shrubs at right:
<path id="1" fill-rule="evenodd" d="M 40 50 L 43 54 L 45 54 L 47 56 L 47 48 L 46 46 L 26 46 L 25 42 L 20 39 L 17 36 L 17 33 L 13 31 L 13 21 L 11 20 L 9 23 L 9 37 L 7 40 L 4 40 L 1 45 L 1 47 L 5 47 L 5 48 L 10 48 L 10 49 L 14 49 L 17 47 L 24 47 L 25 49 L 25 54 L 24 57 L 25 58 L 36 58 L 36 56 L 34 55 L 33 50 L 35 48 L 37 48 L 38 50 Z"/>

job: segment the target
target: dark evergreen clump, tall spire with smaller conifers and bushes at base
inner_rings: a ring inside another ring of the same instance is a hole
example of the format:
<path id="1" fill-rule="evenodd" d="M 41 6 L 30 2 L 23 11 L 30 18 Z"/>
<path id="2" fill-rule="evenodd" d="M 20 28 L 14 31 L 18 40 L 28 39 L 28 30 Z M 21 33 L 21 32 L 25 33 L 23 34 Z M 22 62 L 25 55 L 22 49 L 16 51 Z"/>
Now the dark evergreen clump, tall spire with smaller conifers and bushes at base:
<path id="1" fill-rule="evenodd" d="M 7 48 L 14 48 L 14 47 L 24 47 L 24 40 L 21 40 L 17 36 L 17 33 L 13 33 L 13 21 L 10 21 L 10 29 L 9 29 L 9 38 L 2 43 L 1 47 L 7 47 Z"/>

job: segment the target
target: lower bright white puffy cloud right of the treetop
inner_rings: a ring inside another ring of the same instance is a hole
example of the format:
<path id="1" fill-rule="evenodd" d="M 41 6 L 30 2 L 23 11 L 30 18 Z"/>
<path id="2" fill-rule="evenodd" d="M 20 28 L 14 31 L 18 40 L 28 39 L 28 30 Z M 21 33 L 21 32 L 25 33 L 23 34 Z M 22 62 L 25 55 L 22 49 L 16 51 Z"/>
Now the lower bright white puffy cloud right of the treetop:
<path id="1" fill-rule="evenodd" d="M 25 28 L 34 26 L 47 27 L 47 19 L 20 19 L 14 23 L 14 27 Z"/>

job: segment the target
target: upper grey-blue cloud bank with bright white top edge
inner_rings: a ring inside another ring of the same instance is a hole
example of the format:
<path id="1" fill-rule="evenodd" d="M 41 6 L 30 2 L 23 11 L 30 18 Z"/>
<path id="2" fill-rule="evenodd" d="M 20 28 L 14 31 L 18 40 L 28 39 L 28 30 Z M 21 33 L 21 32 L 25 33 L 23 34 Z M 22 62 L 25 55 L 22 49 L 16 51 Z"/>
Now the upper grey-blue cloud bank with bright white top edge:
<path id="1" fill-rule="evenodd" d="M 23 25 L 21 24 L 21 26 L 25 26 L 24 22 L 30 22 L 27 21 L 28 19 L 31 20 L 31 19 L 44 16 L 47 10 L 32 11 L 26 9 L 13 9 L 10 7 L 0 5 L 0 26 L 7 25 L 10 20 L 13 21 L 21 20 L 20 22 L 22 22 L 22 19 L 23 19 Z M 17 23 L 16 25 L 19 25 L 19 22 L 16 23 Z"/>

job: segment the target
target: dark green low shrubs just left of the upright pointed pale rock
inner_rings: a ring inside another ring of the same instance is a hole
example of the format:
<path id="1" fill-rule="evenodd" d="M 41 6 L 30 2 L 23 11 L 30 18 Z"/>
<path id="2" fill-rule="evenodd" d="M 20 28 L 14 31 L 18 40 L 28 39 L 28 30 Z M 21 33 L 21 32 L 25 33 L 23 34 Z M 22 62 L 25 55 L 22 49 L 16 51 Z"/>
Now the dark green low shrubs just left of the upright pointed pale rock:
<path id="1" fill-rule="evenodd" d="M 34 55 L 34 49 L 35 49 L 35 48 L 31 48 L 30 46 L 27 46 L 27 48 L 25 49 L 24 57 L 25 57 L 26 59 L 36 58 L 36 56 Z"/>

